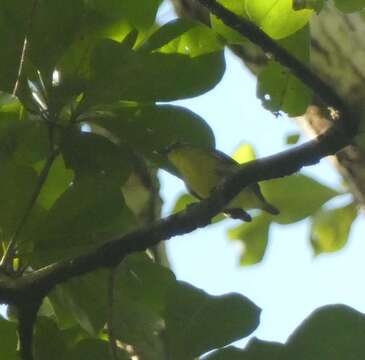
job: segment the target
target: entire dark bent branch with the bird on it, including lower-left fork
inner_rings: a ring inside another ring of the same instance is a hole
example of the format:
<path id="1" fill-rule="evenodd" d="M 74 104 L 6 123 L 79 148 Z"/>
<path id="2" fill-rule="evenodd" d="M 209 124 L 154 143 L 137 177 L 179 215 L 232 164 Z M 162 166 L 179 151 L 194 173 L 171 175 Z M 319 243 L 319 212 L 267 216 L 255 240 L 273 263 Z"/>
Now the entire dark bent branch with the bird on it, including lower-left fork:
<path id="1" fill-rule="evenodd" d="M 332 128 L 316 139 L 272 156 L 249 162 L 233 175 L 227 177 L 212 195 L 187 209 L 154 221 L 151 224 L 127 233 L 75 258 L 45 266 L 19 278 L 0 277 L 0 303 L 13 304 L 19 308 L 23 320 L 19 332 L 22 336 L 22 356 L 31 360 L 31 335 L 36 313 L 42 299 L 56 285 L 76 276 L 90 273 L 102 267 L 113 268 L 127 255 L 144 251 L 173 236 L 186 234 L 210 224 L 211 219 L 246 186 L 263 180 L 291 175 L 304 166 L 317 164 L 323 157 L 333 155 L 351 144 L 356 134 L 358 118 L 343 103 L 342 99 L 300 61 L 255 25 L 228 11 L 215 0 L 197 0 L 225 24 L 239 31 L 264 51 L 274 55 L 298 78 L 305 82 L 338 112 Z M 29 303 L 26 299 L 34 299 Z M 29 304 L 31 307 L 29 308 Z M 21 320 L 21 319 L 20 319 Z"/>

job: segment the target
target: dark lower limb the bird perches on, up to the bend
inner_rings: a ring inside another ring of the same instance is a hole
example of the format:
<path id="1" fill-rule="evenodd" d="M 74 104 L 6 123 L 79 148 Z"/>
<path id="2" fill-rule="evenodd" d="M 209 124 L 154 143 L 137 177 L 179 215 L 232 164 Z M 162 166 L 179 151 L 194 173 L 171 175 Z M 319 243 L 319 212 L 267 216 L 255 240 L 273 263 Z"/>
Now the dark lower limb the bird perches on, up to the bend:
<path id="1" fill-rule="evenodd" d="M 15 289 L 10 291 L 0 283 L 0 299 L 16 302 L 18 293 L 30 291 L 47 294 L 55 285 L 76 276 L 92 272 L 101 267 L 113 267 L 128 254 L 147 248 L 208 225 L 211 219 L 246 186 L 274 178 L 284 177 L 300 170 L 303 166 L 314 165 L 323 157 L 333 155 L 350 143 L 350 139 L 333 126 L 317 139 L 285 150 L 278 154 L 251 161 L 224 179 L 212 196 L 184 211 L 153 222 L 120 238 L 109 241 L 95 250 L 41 268 L 22 278 L 16 279 Z M 6 285 L 6 283 L 4 283 Z M 24 296 L 24 295 L 23 295 Z"/>

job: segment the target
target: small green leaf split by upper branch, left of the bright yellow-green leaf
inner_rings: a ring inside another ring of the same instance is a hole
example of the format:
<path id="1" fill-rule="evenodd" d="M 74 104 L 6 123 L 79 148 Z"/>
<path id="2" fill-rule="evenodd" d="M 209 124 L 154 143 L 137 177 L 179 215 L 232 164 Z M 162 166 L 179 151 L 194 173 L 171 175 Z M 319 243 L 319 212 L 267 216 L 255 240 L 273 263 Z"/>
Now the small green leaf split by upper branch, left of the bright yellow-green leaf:
<path id="1" fill-rule="evenodd" d="M 246 6 L 245 6 L 246 1 L 219 0 L 219 3 L 237 15 L 242 17 L 247 17 Z M 223 21 L 219 20 L 216 16 L 210 15 L 210 22 L 212 24 L 213 29 L 224 39 L 226 39 L 229 44 L 247 45 L 246 38 L 244 38 L 237 31 L 232 30 L 229 26 L 225 25 Z"/>

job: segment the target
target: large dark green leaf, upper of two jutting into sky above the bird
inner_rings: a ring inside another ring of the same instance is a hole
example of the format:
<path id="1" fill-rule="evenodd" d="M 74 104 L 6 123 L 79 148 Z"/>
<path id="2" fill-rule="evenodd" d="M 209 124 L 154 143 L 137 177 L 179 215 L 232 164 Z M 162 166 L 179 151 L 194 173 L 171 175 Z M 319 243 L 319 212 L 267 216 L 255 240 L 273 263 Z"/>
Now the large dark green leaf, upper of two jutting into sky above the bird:
<path id="1" fill-rule="evenodd" d="M 201 95 L 221 80 L 223 52 L 190 58 L 137 52 L 112 40 L 99 43 L 92 58 L 86 103 L 117 100 L 172 101 Z"/>

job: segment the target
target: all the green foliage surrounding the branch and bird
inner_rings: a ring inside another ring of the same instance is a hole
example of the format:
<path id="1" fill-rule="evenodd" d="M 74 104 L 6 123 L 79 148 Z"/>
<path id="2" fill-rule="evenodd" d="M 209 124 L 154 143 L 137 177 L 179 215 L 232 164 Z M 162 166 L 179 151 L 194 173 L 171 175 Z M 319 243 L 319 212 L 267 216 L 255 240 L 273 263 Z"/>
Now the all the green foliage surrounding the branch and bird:
<path id="1" fill-rule="evenodd" d="M 159 0 L 32 3 L 0 1 L 0 239 L 14 277 L 85 254 L 157 219 L 148 213 L 157 198 L 155 173 L 172 171 L 163 150 L 176 142 L 215 146 L 204 119 L 166 103 L 214 88 L 225 71 L 224 46 L 247 42 L 215 17 L 212 28 L 184 19 L 160 25 Z M 297 10 L 290 0 L 221 3 L 309 64 L 308 22 L 324 0 L 296 2 Z M 365 6 L 335 4 L 346 12 Z M 257 92 L 267 109 L 289 115 L 302 114 L 312 96 L 274 60 L 259 75 Z M 236 158 L 252 160 L 252 148 Z M 345 245 L 357 210 L 354 204 L 325 207 L 341 195 L 337 190 L 303 175 L 262 183 L 262 189 L 281 214 L 257 213 L 252 223 L 229 230 L 230 238 L 245 244 L 242 264 L 263 258 L 272 223 L 311 217 L 316 254 Z M 192 201 L 184 195 L 176 211 Z M 9 307 L 9 319 L 0 319 L 2 359 L 17 358 L 17 315 L 11 312 Z M 118 359 L 188 360 L 214 349 L 207 359 L 363 354 L 363 316 L 340 306 L 318 310 L 285 345 L 253 340 L 243 351 L 221 349 L 250 335 L 259 316 L 243 295 L 209 295 L 177 281 L 150 253 L 133 254 L 114 270 L 75 278 L 48 294 L 34 354 L 37 360 L 108 359 L 112 337 Z"/>

